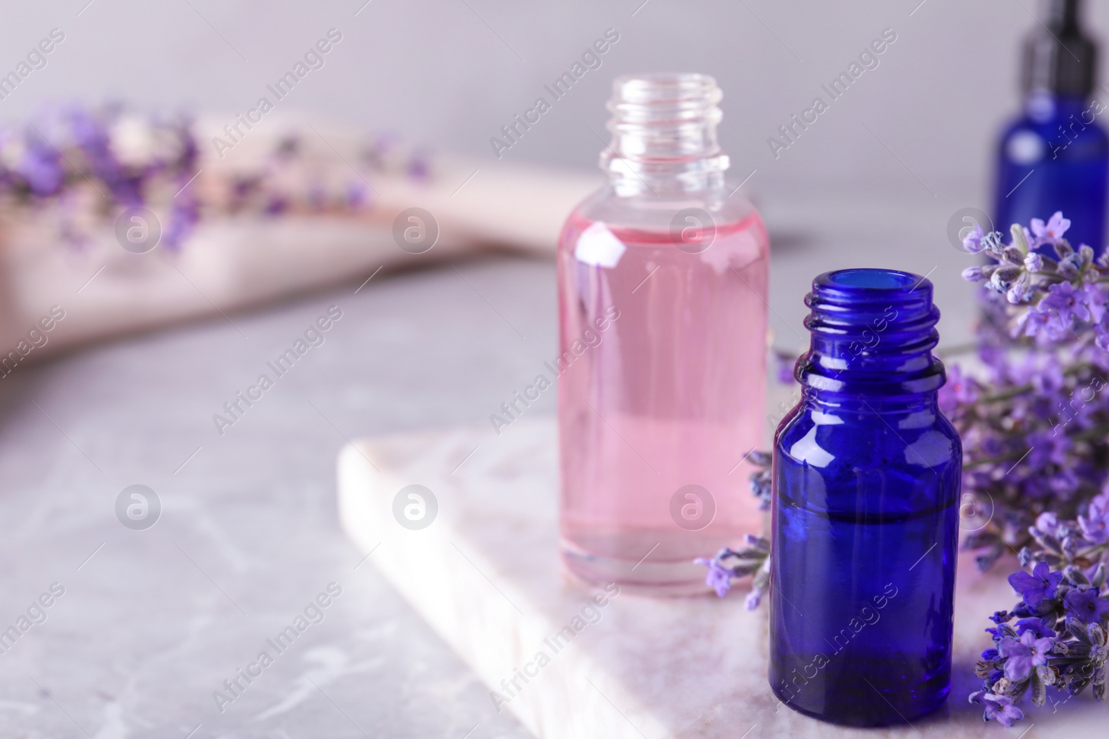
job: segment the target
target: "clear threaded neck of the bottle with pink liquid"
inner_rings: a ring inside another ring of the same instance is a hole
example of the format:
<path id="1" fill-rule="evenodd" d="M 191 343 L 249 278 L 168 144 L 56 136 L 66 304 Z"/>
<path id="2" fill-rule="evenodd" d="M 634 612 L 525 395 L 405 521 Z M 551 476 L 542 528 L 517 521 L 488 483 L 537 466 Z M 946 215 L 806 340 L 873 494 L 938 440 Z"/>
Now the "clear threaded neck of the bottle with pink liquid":
<path id="1" fill-rule="evenodd" d="M 612 143 L 601 168 L 619 195 L 723 187 L 728 155 L 716 142 L 722 97 L 704 74 L 639 74 L 612 83 Z"/>

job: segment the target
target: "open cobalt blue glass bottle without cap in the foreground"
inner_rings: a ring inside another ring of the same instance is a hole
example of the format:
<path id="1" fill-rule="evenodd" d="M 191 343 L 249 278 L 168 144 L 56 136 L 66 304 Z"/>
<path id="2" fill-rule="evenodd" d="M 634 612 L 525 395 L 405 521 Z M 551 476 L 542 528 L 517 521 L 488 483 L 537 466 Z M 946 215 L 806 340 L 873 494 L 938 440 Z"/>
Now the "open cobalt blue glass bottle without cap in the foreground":
<path id="1" fill-rule="evenodd" d="M 774 440 L 770 682 L 834 723 L 912 721 L 950 688 L 963 447 L 932 291 L 844 269 L 805 298 L 803 397 Z"/>

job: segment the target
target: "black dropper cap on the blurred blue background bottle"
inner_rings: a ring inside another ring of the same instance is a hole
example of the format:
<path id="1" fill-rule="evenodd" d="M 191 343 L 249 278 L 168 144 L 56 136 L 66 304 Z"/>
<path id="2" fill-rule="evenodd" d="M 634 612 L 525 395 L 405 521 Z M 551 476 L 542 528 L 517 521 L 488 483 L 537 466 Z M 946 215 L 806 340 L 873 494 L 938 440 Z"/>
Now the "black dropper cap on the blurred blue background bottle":
<path id="1" fill-rule="evenodd" d="M 1079 0 L 1046 0 L 1042 25 L 1025 41 L 1025 92 L 1086 97 L 1093 91 L 1098 47 L 1082 32 Z"/>

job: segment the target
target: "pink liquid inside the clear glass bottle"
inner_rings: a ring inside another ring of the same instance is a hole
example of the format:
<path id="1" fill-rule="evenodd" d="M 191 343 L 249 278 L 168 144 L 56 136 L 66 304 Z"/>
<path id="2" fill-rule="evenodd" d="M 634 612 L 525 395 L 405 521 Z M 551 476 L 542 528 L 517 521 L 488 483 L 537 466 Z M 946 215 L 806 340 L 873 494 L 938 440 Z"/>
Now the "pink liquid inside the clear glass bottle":
<path id="1" fill-rule="evenodd" d="M 702 591 L 692 560 L 762 530 L 743 459 L 763 441 L 765 233 L 752 213 L 688 254 L 608 228 L 627 250 L 604 268 L 574 256 L 590 227 L 572 216 L 559 248 L 563 557 L 591 582 Z"/>

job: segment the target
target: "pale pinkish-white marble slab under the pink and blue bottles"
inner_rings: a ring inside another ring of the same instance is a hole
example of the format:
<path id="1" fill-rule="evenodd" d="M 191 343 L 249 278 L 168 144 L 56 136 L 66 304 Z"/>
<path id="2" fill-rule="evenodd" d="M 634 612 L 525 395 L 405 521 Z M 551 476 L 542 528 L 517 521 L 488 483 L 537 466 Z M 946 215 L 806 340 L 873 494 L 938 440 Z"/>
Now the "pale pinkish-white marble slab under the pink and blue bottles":
<path id="1" fill-rule="evenodd" d="M 959 569 L 955 686 L 938 714 L 857 730 L 777 707 L 766 682 L 765 607 L 744 610 L 742 597 L 629 594 L 602 594 L 603 607 L 594 607 L 598 593 L 564 578 L 556 460 L 547 418 L 521 420 L 500 437 L 466 429 L 363 440 L 339 455 L 343 525 L 367 564 L 509 698 L 490 694 L 490 716 L 499 704 L 537 737 L 554 739 L 1105 736 L 1105 707 L 1088 695 L 1058 710 L 1026 706 L 1013 729 L 983 723 L 980 708 L 967 702 L 977 682 L 970 670 L 989 645 L 986 616 L 1011 607 L 1014 596 L 1001 573 L 980 575 L 969 557 Z M 438 505 L 418 531 L 393 513 L 410 484 L 433 491 Z M 567 626 L 573 638 L 558 638 Z M 513 678 L 520 689 L 510 696 Z"/>

